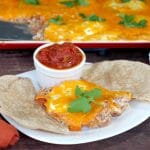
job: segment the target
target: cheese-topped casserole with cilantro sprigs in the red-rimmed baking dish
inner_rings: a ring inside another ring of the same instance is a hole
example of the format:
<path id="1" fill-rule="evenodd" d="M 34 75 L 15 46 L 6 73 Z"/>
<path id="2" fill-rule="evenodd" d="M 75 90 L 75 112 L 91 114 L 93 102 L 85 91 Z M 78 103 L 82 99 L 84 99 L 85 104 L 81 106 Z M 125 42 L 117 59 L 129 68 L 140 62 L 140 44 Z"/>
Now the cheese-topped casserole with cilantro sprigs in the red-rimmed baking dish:
<path id="1" fill-rule="evenodd" d="M 27 22 L 36 40 L 150 40 L 149 0 L 3 0 L 0 19 Z"/>

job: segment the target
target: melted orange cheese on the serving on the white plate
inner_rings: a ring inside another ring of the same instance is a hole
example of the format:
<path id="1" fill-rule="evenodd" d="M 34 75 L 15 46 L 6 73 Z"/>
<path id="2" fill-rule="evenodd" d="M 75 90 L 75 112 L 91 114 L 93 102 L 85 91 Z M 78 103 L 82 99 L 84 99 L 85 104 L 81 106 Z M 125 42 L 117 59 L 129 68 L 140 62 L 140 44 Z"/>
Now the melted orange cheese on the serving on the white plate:
<path id="1" fill-rule="evenodd" d="M 104 109 L 103 106 L 92 104 L 92 110 L 88 113 L 70 113 L 67 111 L 70 102 L 75 100 L 75 88 L 76 86 L 84 90 L 91 90 L 93 88 L 99 88 L 102 90 L 102 96 L 96 99 L 96 102 L 109 103 L 110 108 L 117 107 L 117 104 L 113 99 L 118 97 L 127 97 L 131 99 L 131 94 L 128 92 L 112 92 L 108 91 L 96 84 L 84 81 L 84 80 L 73 80 L 65 81 L 60 85 L 51 89 L 47 94 L 38 94 L 36 96 L 37 101 L 45 99 L 43 105 L 46 107 L 48 114 L 54 118 L 65 122 L 70 130 L 81 130 L 83 126 L 88 126 L 89 123 L 96 118 L 98 114 Z"/>

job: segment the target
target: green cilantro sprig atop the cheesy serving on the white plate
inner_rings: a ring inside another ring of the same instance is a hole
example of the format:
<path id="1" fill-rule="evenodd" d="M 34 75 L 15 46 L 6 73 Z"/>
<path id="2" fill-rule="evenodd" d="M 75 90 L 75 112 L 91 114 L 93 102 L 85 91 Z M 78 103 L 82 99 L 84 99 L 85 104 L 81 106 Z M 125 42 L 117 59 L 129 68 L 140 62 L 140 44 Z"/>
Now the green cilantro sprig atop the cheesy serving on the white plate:
<path id="1" fill-rule="evenodd" d="M 72 101 L 68 107 L 68 112 L 83 112 L 87 113 L 91 110 L 91 103 L 101 105 L 95 102 L 95 99 L 102 95 L 102 91 L 98 88 L 92 89 L 91 91 L 84 91 L 80 87 L 76 86 L 75 89 L 76 99 Z"/>

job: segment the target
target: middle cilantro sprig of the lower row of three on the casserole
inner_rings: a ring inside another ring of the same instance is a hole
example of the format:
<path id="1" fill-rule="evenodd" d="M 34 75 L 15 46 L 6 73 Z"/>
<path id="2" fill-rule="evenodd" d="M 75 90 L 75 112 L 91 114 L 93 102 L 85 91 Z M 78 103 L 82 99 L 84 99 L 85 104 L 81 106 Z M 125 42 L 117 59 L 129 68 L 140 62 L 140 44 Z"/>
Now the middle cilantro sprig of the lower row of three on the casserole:
<path id="1" fill-rule="evenodd" d="M 92 14 L 92 15 L 90 15 L 90 16 L 86 16 L 85 14 L 80 13 L 79 16 L 80 16 L 81 18 L 83 18 L 84 20 L 87 20 L 87 21 L 99 21 L 99 22 L 105 21 L 104 18 L 101 18 L 101 17 L 99 17 L 99 16 L 97 16 L 97 15 L 95 15 L 95 14 Z"/>

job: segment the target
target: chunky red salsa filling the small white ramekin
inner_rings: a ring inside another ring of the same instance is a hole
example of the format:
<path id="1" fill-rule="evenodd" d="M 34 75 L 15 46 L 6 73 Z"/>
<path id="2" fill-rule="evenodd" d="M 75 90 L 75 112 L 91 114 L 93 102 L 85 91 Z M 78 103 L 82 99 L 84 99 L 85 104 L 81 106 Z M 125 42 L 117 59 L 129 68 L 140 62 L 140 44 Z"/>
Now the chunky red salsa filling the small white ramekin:
<path id="1" fill-rule="evenodd" d="M 83 55 L 72 43 L 63 43 L 43 48 L 38 52 L 37 59 L 53 69 L 68 69 L 80 64 Z"/>

